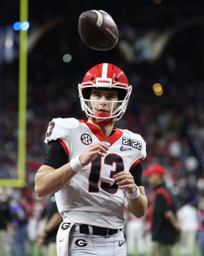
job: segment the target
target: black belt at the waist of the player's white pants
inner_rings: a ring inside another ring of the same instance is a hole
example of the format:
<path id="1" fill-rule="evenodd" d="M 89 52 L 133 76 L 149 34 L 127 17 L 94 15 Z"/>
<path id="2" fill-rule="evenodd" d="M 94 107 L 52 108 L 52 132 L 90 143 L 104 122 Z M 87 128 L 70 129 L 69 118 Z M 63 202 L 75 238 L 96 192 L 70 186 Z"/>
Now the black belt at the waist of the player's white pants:
<path id="1" fill-rule="evenodd" d="M 79 225 L 79 232 L 83 234 L 95 234 L 96 236 L 112 236 L 122 229 L 107 229 L 105 227 Z"/>

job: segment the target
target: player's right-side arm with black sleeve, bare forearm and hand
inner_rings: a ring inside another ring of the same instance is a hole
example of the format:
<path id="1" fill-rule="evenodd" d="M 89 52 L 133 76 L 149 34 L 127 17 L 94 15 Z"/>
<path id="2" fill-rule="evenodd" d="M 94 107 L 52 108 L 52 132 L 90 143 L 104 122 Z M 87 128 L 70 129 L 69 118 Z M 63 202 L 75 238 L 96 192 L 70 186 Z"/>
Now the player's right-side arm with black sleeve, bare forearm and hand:
<path id="1" fill-rule="evenodd" d="M 137 198 L 128 198 L 129 211 L 137 218 L 140 218 L 145 214 L 148 205 L 148 200 L 142 183 L 142 174 L 143 164 L 142 162 L 139 162 L 130 170 L 130 172 L 122 171 L 114 176 L 119 189 L 125 189 L 126 193 L 130 195 L 139 194 Z"/>

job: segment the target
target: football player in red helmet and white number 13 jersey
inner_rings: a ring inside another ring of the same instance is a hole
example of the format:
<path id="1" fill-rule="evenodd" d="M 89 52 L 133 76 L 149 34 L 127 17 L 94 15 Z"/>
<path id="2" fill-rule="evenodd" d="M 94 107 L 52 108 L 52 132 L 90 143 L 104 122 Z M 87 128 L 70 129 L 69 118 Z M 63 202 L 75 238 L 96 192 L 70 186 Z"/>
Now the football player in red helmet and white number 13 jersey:
<path id="1" fill-rule="evenodd" d="M 57 255 L 125 256 L 124 198 L 137 218 L 145 214 L 143 138 L 114 126 L 126 111 L 132 86 L 110 63 L 92 67 L 79 84 L 88 120 L 54 118 L 45 161 L 35 176 L 39 197 L 56 193 L 63 222 Z"/>

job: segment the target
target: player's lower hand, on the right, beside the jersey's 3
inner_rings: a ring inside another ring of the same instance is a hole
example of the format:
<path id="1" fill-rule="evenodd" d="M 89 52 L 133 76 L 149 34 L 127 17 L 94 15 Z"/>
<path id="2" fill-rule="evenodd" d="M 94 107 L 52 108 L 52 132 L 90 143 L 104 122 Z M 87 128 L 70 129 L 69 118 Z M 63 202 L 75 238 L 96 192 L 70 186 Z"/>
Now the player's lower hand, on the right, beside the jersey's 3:
<path id="1" fill-rule="evenodd" d="M 129 194 L 132 194 L 136 191 L 136 186 L 134 185 L 134 177 L 130 172 L 123 170 L 122 172 L 116 173 L 113 178 L 119 189 L 125 189 Z"/>

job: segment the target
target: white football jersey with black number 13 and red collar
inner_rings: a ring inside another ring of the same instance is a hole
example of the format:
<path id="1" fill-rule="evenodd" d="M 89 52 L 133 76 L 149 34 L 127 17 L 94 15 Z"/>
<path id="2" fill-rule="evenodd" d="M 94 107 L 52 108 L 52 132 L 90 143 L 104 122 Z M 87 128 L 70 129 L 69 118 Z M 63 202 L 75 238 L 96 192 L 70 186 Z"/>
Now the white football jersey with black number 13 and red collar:
<path id="1" fill-rule="evenodd" d="M 53 119 L 48 127 L 46 143 L 59 140 L 68 155 L 68 162 L 78 157 L 87 145 L 105 141 L 109 150 L 104 157 L 84 166 L 56 193 L 60 215 L 69 222 L 121 229 L 125 190 L 118 189 L 112 178 L 128 171 L 146 157 L 143 138 L 129 130 L 115 128 L 110 137 L 94 125 L 74 118 Z"/>

